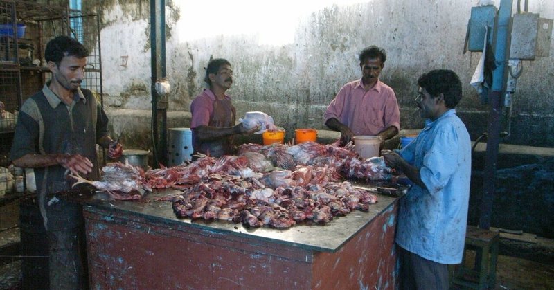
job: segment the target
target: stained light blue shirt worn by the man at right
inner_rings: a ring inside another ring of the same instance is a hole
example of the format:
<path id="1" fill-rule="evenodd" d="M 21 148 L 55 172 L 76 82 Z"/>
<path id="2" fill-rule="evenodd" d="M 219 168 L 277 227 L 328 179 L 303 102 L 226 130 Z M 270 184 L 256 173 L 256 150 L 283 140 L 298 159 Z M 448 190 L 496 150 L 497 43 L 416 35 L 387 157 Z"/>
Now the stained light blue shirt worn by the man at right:
<path id="1" fill-rule="evenodd" d="M 400 156 L 420 170 L 426 188 L 413 185 L 400 200 L 396 243 L 427 260 L 462 260 L 470 199 L 471 140 L 450 109 L 425 128 Z"/>

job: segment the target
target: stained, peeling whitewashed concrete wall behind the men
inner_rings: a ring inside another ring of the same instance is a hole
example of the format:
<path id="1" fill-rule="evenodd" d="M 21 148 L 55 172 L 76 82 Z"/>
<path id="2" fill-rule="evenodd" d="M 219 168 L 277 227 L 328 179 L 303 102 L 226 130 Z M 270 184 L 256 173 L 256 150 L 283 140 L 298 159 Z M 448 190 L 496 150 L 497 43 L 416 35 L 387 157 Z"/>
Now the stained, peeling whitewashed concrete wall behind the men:
<path id="1" fill-rule="evenodd" d="M 529 2 L 530 12 L 554 19 L 553 1 Z M 204 67 L 210 57 L 225 57 L 235 72 L 229 93 L 234 97 L 239 115 L 246 111 L 265 111 L 274 117 L 277 125 L 287 129 L 288 138 L 298 127 L 323 129 L 325 107 L 344 83 L 361 75 L 358 52 L 375 44 L 388 52 L 382 80 L 397 93 L 402 129 L 422 127 L 413 105 L 418 76 L 431 69 L 447 68 L 456 71 L 464 84 L 464 98 L 457 110 L 475 140 L 486 131 L 489 109 L 481 104 L 478 94 L 468 84 L 481 53 L 462 53 L 467 21 L 475 3 L 374 0 L 350 6 L 331 5 L 298 19 L 283 15 L 283 21 L 296 21 L 294 42 L 271 46 L 260 45 L 260 35 L 256 34 L 180 39 L 178 21 L 190 17 L 191 13 L 203 13 L 206 21 L 220 21 L 222 26 L 233 17 L 210 19 L 208 9 L 215 6 L 206 6 L 204 11 L 188 11 L 174 1 L 167 1 L 166 59 L 172 85 L 168 127 L 190 125 L 190 102 L 204 87 Z M 112 120 L 111 130 L 116 135 L 123 130 L 129 147 L 149 147 L 150 2 L 97 0 L 83 4 L 85 10 L 98 11 L 102 19 L 104 100 Z M 240 1 L 235 5 L 240 6 Z M 515 12 L 516 8 L 512 10 Z M 204 30 L 205 26 L 199 23 L 186 29 Z M 554 147 L 554 90 L 550 84 L 554 79 L 554 43 L 550 48 L 550 58 L 537 57 L 533 62 L 523 63 L 511 135 L 503 143 Z M 545 184 L 551 180 L 553 159 L 537 159 L 533 153 L 524 155 L 531 156 L 526 158 L 526 163 L 515 162 L 521 159 L 517 154 L 500 156 L 506 162 L 499 163 L 493 225 L 551 237 L 554 192 Z M 475 161 L 482 165 L 483 157 L 477 155 Z M 533 173 L 529 176 L 526 172 Z M 515 186 L 513 182 L 518 181 Z M 475 167 L 472 223 L 479 215 L 482 183 L 482 168 Z M 541 195 L 537 199 L 534 193 L 539 191 Z M 512 214 L 506 215 L 506 212 Z"/>

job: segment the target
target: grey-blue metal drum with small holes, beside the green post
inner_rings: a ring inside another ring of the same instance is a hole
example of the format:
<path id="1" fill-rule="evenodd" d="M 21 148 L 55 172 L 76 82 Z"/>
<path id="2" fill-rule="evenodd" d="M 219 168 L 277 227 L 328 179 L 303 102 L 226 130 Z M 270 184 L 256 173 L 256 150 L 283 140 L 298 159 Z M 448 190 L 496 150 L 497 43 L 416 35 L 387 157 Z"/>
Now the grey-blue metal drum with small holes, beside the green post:
<path id="1" fill-rule="evenodd" d="M 193 132 L 189 128 L 169 128 L 168 166 L 181 165 L 193 158 Z"/>

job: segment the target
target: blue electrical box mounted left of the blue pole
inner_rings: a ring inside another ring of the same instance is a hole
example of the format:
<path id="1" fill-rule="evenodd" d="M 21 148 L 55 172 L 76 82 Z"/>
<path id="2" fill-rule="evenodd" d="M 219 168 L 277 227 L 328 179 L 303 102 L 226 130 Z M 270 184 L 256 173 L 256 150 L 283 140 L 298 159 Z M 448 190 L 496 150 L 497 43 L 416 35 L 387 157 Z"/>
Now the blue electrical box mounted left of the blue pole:
<path id="1" fill-rule="evenodd" d="M 492 28 L 497 17 L 497 8 L 493 5 L 472 7 L 472 15 L 468 24 L 467 50 L 483 51 L 483 40 L 488 31 L 488 42 L 492 43 Z"/>

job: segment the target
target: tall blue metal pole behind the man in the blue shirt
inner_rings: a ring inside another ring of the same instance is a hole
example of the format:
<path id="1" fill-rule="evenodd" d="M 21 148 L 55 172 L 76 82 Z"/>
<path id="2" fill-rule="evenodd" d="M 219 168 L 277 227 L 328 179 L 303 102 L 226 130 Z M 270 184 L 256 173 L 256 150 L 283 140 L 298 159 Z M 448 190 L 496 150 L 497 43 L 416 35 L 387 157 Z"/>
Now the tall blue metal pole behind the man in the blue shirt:
<path id="1" fill-rule="evenodd" d="M 510 21 L 512 19 L 512 0 L 501 0 L 496 38 L 494 39 L 494 57 L 497 68 L 492 72 L 492 90 L 489 95 L 490 113 L 487 125 L 487 152 L 485 170 L 483 172 L 483 199 L 479 228 L 490 228 L 492 201 L 494 200 L 494 182 L 496 181 L 498 147 L 500 142 L 500 127 L 503 96 L 506 91 L 507 55 L 510 51 Z"/>

